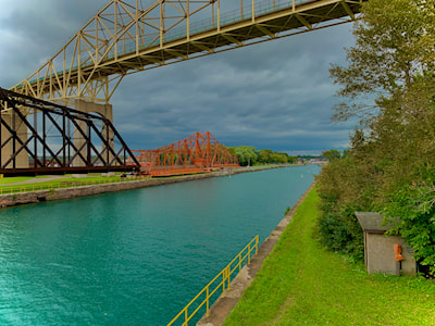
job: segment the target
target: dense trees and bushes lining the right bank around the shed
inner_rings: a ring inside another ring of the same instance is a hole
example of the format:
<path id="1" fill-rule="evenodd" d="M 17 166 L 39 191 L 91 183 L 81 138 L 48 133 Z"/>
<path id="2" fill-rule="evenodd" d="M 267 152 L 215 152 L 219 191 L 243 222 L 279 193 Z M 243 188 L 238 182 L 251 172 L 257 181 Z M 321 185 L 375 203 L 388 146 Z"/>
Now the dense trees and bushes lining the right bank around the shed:
<path id="1" fill-rule="evenodd" d="M 348 151 L 323 153 L 319 238 L 362 259 L 355 212 L 376 211 L 435 275 L 435 1 L 371 0 L 362 14 L 348 65 L 331 68 L 345 99 L 335 118 L 361 127 Z"/>

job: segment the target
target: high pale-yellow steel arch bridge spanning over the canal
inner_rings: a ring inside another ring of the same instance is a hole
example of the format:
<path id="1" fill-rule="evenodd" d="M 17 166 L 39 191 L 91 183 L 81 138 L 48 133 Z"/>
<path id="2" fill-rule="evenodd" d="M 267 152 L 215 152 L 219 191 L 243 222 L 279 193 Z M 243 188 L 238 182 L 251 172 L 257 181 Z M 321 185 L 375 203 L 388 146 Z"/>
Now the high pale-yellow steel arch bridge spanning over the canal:
<path id="1" fill-rule="evenodd" d="M 350 22 L 362 2 L 111 0 L 11 90 L 69 106 L 75 99 L 109 103 L 126 75 Z"/>

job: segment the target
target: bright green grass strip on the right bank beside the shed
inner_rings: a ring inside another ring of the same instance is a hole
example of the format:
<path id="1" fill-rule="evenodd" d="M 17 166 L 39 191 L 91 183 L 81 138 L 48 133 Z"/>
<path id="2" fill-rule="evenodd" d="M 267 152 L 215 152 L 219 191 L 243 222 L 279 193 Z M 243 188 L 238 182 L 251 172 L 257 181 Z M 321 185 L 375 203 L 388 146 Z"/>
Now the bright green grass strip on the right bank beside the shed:
<path id="1" fill-rule="evenodd" d="M 318 200 L 299 206 L 224 325 L 435 325 L 434 281 L 369 275 L 318 243 Z"/>

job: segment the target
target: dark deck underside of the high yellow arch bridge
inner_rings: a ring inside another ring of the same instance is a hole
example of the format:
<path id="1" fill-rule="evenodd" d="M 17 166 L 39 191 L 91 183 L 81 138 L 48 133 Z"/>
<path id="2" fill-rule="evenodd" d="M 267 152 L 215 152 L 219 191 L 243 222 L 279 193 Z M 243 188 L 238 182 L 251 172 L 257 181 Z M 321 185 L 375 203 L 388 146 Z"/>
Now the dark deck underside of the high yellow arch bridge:
<path id="1" fill-rule="evenodd" d="M 91 79 L 98 79 L 116 74 L 127 75 L 250 43 L 323 28 L 349 22 L 360 12 L 360 1 L 313 1 L 295 9 L 286 8 L 254 17 L 244 16 L 234 23 L 210 26 L 208 30 L 190 36 L 185 35 L 163 45 L 146 46 L 139 51 L 133 49 L 129 53 L 103 61 L 98 67 L 92 65 L 82 67 L 80 72 L 75 70 L 67 76 L 59 74 L 57 83 L 51 83 L 50 78 L 46 78 L 44 82 L 39 80 L 45 84 L 39 87 L 44 88 L 44 92 L 49 92 L 53 91 L 58 84 L 66 83 L 63 80 L 65 77 L 69 78 L 69 85 L 74 86 L 77 84 L 79 75 L 83 79 L 89 76 Z M 341 20 L 337 21 L 339 18 Z M 32 83 L 38 83 L 38 80 Z"/>

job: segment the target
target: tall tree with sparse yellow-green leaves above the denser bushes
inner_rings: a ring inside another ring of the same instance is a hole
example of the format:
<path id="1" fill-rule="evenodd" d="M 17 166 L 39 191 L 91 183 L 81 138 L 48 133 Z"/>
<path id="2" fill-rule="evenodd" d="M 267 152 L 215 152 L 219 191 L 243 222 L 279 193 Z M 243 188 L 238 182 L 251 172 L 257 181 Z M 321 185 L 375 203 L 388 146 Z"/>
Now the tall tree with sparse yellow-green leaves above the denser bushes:
<path id="1" fill-rule="evenodd" d="M 435 62 L 434 0 L 370 0 L 356 23 L 348 66 L 330 70 L 338 95 L 334 118 L 357 116 L 365 125 L 384 109 L 385 99 L 409 89 L 419 75 L 432 75 Z M 375 98 L 373 105 L 361 99 Z"/>

